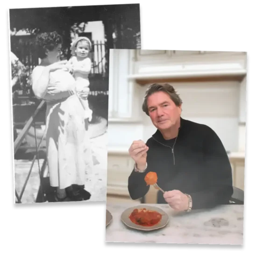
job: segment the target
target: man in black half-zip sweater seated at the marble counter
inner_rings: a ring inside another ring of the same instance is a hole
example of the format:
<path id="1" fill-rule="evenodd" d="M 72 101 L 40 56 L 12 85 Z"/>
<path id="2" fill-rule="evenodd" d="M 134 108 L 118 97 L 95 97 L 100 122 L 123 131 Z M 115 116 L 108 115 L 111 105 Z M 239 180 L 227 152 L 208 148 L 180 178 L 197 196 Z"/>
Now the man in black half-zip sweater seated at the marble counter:
<path id="1" fill-rule="evenodd" d="M 158 191 L 159 204 L 187 212 L 229 204 L 233 186 L 226 150 L 211 128 L 181 118 L 181 106 L 171 85 L 153 84 L 147 89 L 142 110 L 157 130 L 146 143 L 134 141 L 129 148 L 135 161 L 128 178 L 130 197 L 145 196 L 149 185 L 144 178 L 153 171 L 164 190 L 164 194 Z"/>

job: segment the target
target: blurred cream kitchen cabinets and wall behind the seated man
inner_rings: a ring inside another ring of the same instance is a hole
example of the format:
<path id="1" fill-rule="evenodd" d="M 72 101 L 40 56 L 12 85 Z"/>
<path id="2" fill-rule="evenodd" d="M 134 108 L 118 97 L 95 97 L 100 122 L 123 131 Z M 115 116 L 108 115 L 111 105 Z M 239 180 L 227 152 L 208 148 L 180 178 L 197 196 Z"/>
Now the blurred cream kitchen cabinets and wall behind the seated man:
<path id="1" fill-rule="evenodd" d="M 128 148 L 134 140 L 146 142 L 156 131 L 142 112 L 144 93 L 152 83 L 173 85 L 183 100 L 182 117 L 213 128 L 228 153 L 233 186 L 244 191 L 246 51 L 110 50 L 109 63 L 107 202 L 131 200 L 128 176 L 134 162 Z M 144 200 L 155 203 L 156 191 L 150 189 Z"/>

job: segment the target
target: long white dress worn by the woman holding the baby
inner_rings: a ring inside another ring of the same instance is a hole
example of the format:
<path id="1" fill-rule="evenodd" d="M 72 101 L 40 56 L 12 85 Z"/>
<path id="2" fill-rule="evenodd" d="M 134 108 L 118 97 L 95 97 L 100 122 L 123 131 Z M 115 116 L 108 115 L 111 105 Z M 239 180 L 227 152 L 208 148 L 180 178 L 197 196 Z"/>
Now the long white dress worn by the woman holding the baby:
<path id="1" fill-rule="evenodd" d="M 64 189 L 72 184 L 85 185 L 85 172 L 91 173 L 90 136 L 85 130 L 85 112 L 75 91 L 75 80 L 63 70 L 50 73 L 44 100 L 46 146 L 50 185 Z"/>

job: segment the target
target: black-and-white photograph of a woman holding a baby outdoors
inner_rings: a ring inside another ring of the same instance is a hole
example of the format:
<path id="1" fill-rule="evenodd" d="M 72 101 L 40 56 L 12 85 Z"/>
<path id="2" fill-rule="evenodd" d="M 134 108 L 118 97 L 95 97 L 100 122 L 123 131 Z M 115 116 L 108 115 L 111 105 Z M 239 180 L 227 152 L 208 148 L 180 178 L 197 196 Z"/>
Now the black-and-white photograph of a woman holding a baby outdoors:
<path id="1" fill-rule="evenodd" d="M 105 201 L 109 49 L 140 4 L 8 9 L 14 203 Z"/>

